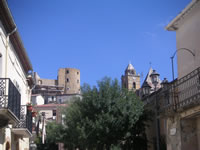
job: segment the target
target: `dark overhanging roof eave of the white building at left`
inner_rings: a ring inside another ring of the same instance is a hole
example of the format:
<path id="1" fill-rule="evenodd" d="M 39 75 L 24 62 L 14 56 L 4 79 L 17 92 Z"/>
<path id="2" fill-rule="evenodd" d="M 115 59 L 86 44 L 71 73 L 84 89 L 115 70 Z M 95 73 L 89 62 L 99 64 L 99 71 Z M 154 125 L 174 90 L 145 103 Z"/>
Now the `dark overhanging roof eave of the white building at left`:
<path id="1" fill-rule="evenodd" d="M 0 20 L 6 30 L 6 33 L 12 32 L 16 28 L 16 24 L 8 8 L 6 0 L 0 0 Z M 19 32 L 16 31 L 10 36 L 10 41 L 21 61 L 21 64 L 27 73 L 29 70 L 33 70 L 30 59 L 26 53 L 22 40 L 20 38 Z"/>

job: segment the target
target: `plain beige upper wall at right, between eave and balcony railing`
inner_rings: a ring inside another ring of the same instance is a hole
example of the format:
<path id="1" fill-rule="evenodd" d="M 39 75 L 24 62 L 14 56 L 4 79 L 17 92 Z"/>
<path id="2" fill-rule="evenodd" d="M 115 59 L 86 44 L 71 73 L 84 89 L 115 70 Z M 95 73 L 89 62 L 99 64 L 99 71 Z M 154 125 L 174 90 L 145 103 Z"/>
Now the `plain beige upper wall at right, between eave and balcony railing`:
<path id="1" fill-rule="evenodd" d="M 178 56 L 178 78 L 200 67 L 200 2 L 180 21 L 176 31 L 177 49 L 188 48 L 195 53 L 180 50 Z"/>

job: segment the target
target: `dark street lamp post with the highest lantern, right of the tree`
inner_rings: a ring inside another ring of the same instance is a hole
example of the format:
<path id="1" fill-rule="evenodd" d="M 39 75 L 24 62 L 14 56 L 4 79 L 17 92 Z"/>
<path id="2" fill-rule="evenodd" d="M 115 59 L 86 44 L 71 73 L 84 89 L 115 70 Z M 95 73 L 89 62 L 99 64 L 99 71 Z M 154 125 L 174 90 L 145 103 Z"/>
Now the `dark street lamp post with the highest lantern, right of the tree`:
<path id="1" fill-rule="evenodd" d="M 152 83 L 154 85 L 154 92 L 156 92 L 156 86 L 159 83 L 159 74 L 153 70 L 152 74 L 150 75 Z M 160 120 L 158 118 L 158 102 L 157 102 L 157 94 L 156 96 L 156 108 L 155 108 L 155 116 L 156 116 L 156 147 L 157 150 L 160 150 Z"/>

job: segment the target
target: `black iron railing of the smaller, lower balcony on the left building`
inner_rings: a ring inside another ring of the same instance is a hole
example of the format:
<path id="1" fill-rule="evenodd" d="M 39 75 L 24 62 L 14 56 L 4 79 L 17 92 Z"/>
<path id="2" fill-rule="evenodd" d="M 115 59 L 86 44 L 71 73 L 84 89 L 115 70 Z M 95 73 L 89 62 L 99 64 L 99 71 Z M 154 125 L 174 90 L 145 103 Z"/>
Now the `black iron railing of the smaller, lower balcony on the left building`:
<path id="1" fill-rule="evenodd" d="M 26 128 L 32 133 L 32 113 L 27 110 L 26 105 L 21 105 L 20 123 L 15 128 Z"/>

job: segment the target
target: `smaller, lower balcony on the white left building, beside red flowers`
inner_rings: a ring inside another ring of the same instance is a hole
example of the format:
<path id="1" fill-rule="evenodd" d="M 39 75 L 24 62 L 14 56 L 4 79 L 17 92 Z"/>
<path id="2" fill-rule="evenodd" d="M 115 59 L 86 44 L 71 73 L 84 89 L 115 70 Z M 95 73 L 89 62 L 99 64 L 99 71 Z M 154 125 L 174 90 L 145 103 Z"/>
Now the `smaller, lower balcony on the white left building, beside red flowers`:
<path id="1" fill-rule="evenodd" d="M 24 138 L 32 135 L 32 113 L 27 110 L 26 105 L 21 106 L 20 122 L 12 129 L 12 132 Z"/>

